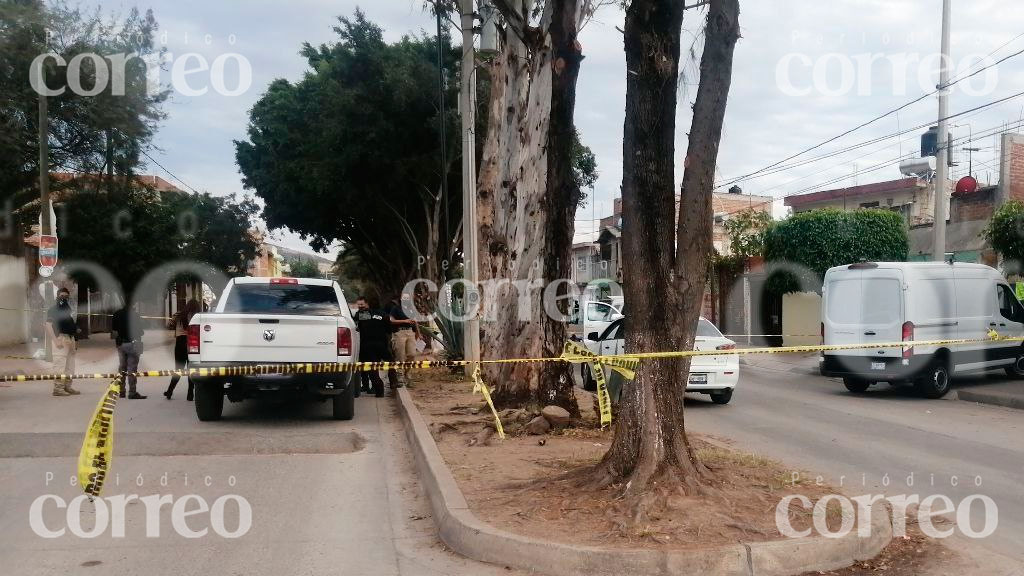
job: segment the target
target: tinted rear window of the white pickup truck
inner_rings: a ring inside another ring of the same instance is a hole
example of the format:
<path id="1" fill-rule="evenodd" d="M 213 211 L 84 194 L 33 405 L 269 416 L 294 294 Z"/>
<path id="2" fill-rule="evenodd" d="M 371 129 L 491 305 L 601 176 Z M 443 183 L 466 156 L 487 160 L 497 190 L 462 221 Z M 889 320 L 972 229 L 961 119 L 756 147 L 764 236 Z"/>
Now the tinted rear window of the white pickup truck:
<path id="1" fill-rule="evenodd" d="M 333 286 L 236 284 L 227 293 L 224 313 L 338 316 L 341 305 Z"/>

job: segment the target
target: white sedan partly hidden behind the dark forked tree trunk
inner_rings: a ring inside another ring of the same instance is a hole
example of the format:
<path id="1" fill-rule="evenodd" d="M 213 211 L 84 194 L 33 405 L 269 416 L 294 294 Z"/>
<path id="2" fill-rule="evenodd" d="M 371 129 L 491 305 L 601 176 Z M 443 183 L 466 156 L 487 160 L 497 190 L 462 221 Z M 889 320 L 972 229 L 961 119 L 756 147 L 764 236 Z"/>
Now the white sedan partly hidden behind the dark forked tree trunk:
<path id="1" fill-rule="evenodd" d="M 626 321 L 616 320 L 601 334 L 591 332 L 584 340 L 590 352 L 601 356 L 626 354 Z M 726 338 L 714 324 L 701 318 L 697 322 L 697 334 L 693 349 L 727 351 L 735 349 L 736 342 Z M 605 376 L 613 372 L 605 368 Z M 590 374 L 590 366 L 583 365 L 585 389 L 595 389 L 597 384 Z M 736 355 L 694 356 L 690 363 L 689 381 L 686 392 L 708 394 L 715 404 L 728 404 L 732 390 L 739 382 L 739 357 Z"/>

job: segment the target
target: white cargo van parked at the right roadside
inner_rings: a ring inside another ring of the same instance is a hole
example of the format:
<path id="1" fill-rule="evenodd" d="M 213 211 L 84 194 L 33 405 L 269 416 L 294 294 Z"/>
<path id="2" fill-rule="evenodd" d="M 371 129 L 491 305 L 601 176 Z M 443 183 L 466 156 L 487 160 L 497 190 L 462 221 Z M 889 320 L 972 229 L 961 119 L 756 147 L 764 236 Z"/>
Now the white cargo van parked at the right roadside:
<path id="1" fill-rule="evenodd" d="M 908 340 L 985 339 L 965 345 L 826 352 L 821 374 L 862 393 L 871 384 L 913 382 L 922 395 L 949 392 L 952 373 L 1002 368 L 1024 376 L 1019 341 L 1024 306 L 1002 276 L 986 265 L 948 262 L 860 262 L 829 269 L 821 298 L 825 345 Z"/>

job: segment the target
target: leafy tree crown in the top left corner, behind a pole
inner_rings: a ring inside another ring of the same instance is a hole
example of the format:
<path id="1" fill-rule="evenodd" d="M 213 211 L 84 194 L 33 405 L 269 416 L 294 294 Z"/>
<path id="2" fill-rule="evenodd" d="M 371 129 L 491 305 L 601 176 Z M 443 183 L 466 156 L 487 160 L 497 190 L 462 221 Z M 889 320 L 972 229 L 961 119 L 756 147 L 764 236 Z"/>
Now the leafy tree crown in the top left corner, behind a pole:
<path id="1" fill-rule="evenodd" d="M 157 22 L 152 11 L 132 8 L 114 22 L 99 9 L 83 12 L 63 0 L 49 6 L 34 0 L 0 0 L 0 201 L 13 207 L 35 196 L 38 162 L 39 96 L 30 83 L 33 59 L 52 51 L 70 61 L 86 52 L 103 56 L 135 53 L 127 61 L 124 95 L 114 95 L 114 81 L 94 96 L 68 89 L 49 96 L 50 169 L 81 173 L 131 174 L 151 146 L 166 89 L 150 91 L 142 58 L 158 59 Z M 44 34 L 48 33 L 48 34 Z M 91 60 L 82 67 L 82 85 L 92 88 Z M 110 59 L 108 69 L 112 70 Z M 68 67 L 48 60 L 47 86 L 68 85 Z M 113 78 L 113 76 L 112 76 Z M 59 186 L 54 182 L 54 189 Z"/>

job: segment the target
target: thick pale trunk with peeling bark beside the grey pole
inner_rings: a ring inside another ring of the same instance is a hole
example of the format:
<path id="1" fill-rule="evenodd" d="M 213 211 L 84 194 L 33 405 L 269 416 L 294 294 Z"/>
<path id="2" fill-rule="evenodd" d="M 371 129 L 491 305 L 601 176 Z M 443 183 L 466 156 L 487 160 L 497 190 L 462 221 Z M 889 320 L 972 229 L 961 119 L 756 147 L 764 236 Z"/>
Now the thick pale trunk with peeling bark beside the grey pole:
<path id="1" fill-rule="evenodd" d="M 487 136 L 477 187 L 481 357 L 561 354 L 563 319 L 544 310 L 552 282 L 569 277 L 572 219 L 580 190 L 572 178 L 572 115 L 582 60 L 577 32 L 585 0 L 547 0 L 538 28 L 522 2 L 498 1 L 507 23 L 493 60 Z M 565 293 L 560 283 L 559 294 Z M 564 305 L 561 312 L 567 312 Z M 578 415 L 569 365 L 488 367 L 485 380 L 502 405 L 536 399 Z"/>

